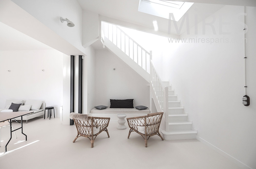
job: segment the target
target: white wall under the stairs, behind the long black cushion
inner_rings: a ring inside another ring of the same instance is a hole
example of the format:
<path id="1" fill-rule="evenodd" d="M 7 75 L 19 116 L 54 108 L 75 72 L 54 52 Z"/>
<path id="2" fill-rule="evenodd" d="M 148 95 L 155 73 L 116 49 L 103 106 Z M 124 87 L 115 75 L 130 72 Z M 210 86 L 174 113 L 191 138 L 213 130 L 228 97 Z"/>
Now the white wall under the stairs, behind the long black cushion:
<path id="1" fill-rule="evenodd" d="M 146 80 L 107 50 L 96 50 L 95 56 L 94 106 L 110 106 L 109 99 L 134 99 L 134 106 L 150 106 Z"/>

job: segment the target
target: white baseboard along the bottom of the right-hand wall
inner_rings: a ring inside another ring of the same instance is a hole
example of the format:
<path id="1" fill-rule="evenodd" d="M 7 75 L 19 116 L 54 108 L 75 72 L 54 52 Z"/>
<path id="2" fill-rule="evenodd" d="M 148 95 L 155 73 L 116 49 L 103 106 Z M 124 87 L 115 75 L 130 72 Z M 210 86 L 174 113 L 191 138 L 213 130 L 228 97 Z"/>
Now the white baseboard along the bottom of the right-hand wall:
<path id="1" fill-rule="evenodd" d="M 208 141 L 202 139 L 201 137 L 196 136 L 196 139 L 199 140 L 200 142 L 206 144 L 207 146 L 211 147 L 212 149 L 214 149 L 215 151 L 217 151 L 218 153 L 220 153 L 221 155 L 223 155 L 224 157 L 228 158 L 230 161 L 234 162 L 235 164 L 239 165 L 240 167 L 244 168 L 244 169 L 252 169 L 251 167 L 249 167 L 248 165 L 242 163 L 241 161 L 237 160 L 236 158 L 234 158 L 233 156 L 229 155 L 228 153 L 222 151 L 221 149 L 219 149 L 218 147 L 212 145 L 211 143 L 209 143 Z"/>

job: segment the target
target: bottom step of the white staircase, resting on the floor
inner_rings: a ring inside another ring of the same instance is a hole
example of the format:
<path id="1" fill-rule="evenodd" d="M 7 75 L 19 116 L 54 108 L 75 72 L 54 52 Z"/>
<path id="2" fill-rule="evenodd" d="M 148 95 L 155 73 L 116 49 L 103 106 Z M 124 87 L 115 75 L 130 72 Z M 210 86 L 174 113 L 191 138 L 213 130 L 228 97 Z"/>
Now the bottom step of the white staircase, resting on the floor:
<path id="1" fill-rule="evenodd" d="M 184 131 L 161 131 L 162 136 L 165 140 L 187 140 L 196 139 L 197 132 L 193 130 Z"/>

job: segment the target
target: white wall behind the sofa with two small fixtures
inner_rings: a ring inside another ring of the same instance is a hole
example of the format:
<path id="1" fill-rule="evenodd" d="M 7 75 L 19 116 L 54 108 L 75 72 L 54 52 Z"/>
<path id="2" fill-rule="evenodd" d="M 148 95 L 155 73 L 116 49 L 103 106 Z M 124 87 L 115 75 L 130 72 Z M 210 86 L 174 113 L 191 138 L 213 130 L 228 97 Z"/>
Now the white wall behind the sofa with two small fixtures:
<path id="1" fill-rule="evenodd" d="M 0 51 L 0 63 L 0 107 L 4 108 L 6 99 L 42 100 L 46 106 L 54 106 L 55 116 L 59 117 L 62 53 L 56 50 Z"/>

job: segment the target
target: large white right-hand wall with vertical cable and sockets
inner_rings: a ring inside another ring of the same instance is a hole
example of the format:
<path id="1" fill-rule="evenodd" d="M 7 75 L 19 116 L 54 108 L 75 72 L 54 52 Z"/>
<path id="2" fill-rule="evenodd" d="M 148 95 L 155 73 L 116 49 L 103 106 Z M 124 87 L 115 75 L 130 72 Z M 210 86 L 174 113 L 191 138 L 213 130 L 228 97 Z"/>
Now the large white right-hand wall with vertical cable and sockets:
<path id="1" fill-rule="evenodd" d="M 216 17 L 213 26 L 206 26 L 202 34 L 202 22 L 198 34 L 194 29 L 182 38 L 225 38 L 225 43 L 169 43 L 163 56 L 163 74 L 178 93 L 193 127 L 198 129 L 198 139 L 215 146 L 223 155 L 244 168 L 256 168 L 256 8 L 247 7 L 247 57 L 248 95 L 250 106 L 242 105 L 244 95 L 244 39 L 243 7 L 225 6 L 206 19 Z M 219 31 L 219 21 L 230 22 Z M 194 34 L 194 35 L 193 35 Z M 231 40 L 234 42 L 230 42 Z M 199 39 L 198 39 L 199 40 Z M 167 41 L 167 39 L 166 39 Z M 227 153 L 223 153 L 223 152 Z"/>

